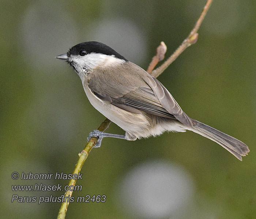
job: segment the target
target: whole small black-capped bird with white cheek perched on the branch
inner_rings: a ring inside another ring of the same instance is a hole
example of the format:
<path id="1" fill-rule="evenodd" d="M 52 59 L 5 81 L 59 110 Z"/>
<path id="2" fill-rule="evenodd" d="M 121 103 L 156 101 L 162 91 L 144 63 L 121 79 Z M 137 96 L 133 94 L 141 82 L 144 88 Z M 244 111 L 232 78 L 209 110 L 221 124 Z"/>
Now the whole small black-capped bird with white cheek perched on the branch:
<path id="1" fill-rule="evenodd" d="M 236 138 L 189 118 L 161 82 L 103 43 L 80 43 L 56 58 L 75 69 L 93 107 L 125 131 L 116 135 L 94 130 L 89 138 L 98 138 L 96 147 L 103 137 L 135 141 L 165 131 L 190 130 L 217 142 L 239 160 L 249 152 Z"/>

